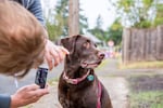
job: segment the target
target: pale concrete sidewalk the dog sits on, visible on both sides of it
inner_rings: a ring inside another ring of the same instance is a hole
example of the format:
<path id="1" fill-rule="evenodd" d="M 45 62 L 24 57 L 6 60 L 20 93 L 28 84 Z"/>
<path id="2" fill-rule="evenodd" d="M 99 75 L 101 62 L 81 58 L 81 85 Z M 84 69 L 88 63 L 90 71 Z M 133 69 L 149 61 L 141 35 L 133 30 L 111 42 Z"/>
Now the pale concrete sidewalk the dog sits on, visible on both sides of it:
<path id="1" fill-rule="evenodd" d="M 123 77 L 109 77 L 108 75 L 110 75 L 111 71 L 117 72 L 116 60 L 114 59 L 111 60 L 111 64 L 109 63 L 101 69 L 96 70 L 98 78 L 110 94 L 113 108 L 127 108 L 127 82 Z M 43 96 L 39 102 L 30 105 L 29 108 L 62 108 L 58 102 L 58 82 L 54 82 L 50 86 L 49 95 Z"/>

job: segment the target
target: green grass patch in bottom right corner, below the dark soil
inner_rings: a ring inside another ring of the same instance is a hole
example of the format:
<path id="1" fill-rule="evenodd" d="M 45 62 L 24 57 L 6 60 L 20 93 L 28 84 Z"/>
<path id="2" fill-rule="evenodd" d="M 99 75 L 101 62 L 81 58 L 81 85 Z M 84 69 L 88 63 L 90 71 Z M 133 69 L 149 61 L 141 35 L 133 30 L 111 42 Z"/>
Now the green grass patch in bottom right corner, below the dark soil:
<path id="1" fill-rule="evenodd" d="M 131 93 L 129 108 L 163 108 L 163 91 Z"/>

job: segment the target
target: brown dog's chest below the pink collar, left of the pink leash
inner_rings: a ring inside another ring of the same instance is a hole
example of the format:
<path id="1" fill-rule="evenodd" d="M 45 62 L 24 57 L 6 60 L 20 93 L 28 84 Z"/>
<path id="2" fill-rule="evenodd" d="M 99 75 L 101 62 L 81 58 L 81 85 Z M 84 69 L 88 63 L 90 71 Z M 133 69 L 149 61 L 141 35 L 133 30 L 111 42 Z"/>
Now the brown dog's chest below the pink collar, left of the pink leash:
<path id="1" fill-rule="evenodd" d="M 67 90 L 67 100 L 71 104 L 71 108 L 96 108 L 98 90 L 93 86 L 80 91 Z"/>

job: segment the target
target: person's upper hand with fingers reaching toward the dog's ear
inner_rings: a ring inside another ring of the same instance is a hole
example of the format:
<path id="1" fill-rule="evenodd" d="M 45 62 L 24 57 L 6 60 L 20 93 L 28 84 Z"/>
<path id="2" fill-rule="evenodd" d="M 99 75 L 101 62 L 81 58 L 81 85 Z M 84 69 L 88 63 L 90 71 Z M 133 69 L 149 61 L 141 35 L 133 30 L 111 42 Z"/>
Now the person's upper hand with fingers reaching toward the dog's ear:
<path id="1" fill-rule="evenodd" d="M 50 40 L 47 40 L 45 57 L 48 62 L 50 70 L 53 66 L 58 66 L 64 59 L 66 54 L 70 54 L 66 49 L 55 45 Z M 54 60 L 54 63 L 52 60 Z"/>

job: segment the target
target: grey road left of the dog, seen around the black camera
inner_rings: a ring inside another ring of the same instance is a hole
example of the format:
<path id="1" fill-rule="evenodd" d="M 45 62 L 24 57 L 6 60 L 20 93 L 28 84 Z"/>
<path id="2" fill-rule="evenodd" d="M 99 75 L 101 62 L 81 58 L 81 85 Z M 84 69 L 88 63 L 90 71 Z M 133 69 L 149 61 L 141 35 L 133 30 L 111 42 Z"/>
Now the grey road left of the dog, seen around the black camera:
<path id="1" fill-rule="evenodd" d="M 60 73 L 63 70 L 63 64 L 55 67 L 52 71 L 49 72 L 48 79 L 59 78 Z M 32 84 L 35 82 L 36 69 L 32 69 L 30 72 L 23 79 L 18 80 L 18 87 Z M 13 94 L 16 91 L 13 77 L 5 77 L 0 75 L 0 94 Z"/>

